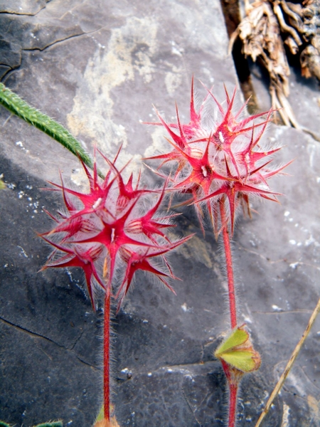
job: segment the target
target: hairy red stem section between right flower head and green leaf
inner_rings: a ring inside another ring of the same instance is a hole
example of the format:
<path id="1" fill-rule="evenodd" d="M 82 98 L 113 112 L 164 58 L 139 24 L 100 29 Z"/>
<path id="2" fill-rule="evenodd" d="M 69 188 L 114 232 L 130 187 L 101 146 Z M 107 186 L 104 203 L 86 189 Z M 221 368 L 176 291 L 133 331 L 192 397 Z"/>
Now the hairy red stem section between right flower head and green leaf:
<path id="1" fill-rule="evenodd" d="M 227 266 L 227 276 L 228 276 L 230 322 L 231 322 L 231 329 L 234 329 L 237 326 L 237 310 L 235 305 L 235 282 L 233 280 L 233 258 L 231 254 L 228 223 L 227 221 L 225 221 L 224 201 L 220 201 L 220 216 L 221 216 L 221 226 L 223 228 L 223 245 L 225 246 L 225 265 Z"/>

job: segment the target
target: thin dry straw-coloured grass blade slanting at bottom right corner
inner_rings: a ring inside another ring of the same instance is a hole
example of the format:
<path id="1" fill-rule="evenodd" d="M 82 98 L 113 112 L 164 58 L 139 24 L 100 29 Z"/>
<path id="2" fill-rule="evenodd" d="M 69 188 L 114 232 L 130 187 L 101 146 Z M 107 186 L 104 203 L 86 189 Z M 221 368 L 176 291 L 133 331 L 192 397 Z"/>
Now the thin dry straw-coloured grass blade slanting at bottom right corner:
<path id="1" fill-rule="evenodd" d="M 264 410 L 262 411 L 255 427 L 259 427 L 262 423 L 262 421 L 264 420 L 265 416 L 267 415 L 270 406 L 272 405 L 272 402 L 274 401 L 274 399 L 277 397 L 277 394 L 279 393 L 280 389 L 282 388 L 284 381 L 286 380 L 289 371 L 292 368 L 292 365 L 294 364 L 294 361 L 297 359 L 297 356 L 302 348 L 302 345 L 304 344 L 304 341 L 306 339 L 306 337 L 308 336 L 312 325 L 314 325 L 314 321 L 316 320 L 316 316 L 318 315 L 320 311 L 320 299 L 318 301 L 318 304 L 316 305 L 316 308 L 314 309 L 314 312 L 312 313 L 309 323 L 306 326 L 306 330 L 304 331 L 304 333 L 302 334 L 302 337 L 300 339 L 300 341 L 297 344 L 297 347 L 294 349 L 294 352 L 292 353 L 292 356 L 289 359 L 289 362 L 287 363 L 287 366 L 285 367 L 282 376 L 280 376 L 279 381 L 277 382 L 277 385 L 274 387 L 274 390 L 272 391 L 272 394 L 270 395 L 269 400 L 267 401 L 267 404 L 264 408 Z"/>

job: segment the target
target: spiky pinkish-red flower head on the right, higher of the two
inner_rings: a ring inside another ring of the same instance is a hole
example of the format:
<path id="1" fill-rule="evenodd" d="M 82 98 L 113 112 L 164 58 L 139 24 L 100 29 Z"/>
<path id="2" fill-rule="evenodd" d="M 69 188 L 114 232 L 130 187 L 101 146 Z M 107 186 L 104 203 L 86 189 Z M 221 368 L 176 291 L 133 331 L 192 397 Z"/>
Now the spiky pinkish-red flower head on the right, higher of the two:
<path id="1" fill-rule="evenodd" d="M 164 126 L 171 138 L 167 140 L 174 149 L 149 159 L 160 159 L 160 167 L 168 162 L 176 164 L 169 178 L 171 190 L 191 194 L 188 203 L 196 206 L 203 232 L 204 203 L 215 235 L 218 235 L 220 204 L 224 205 L 233 233 L 238 207 L 245 205 L 250 212 L 250 196 L 277 201 L 277 193 L 270 190 L 267 179 L 287 165 L 270 169 L 270 156 L 279 150 L 279 147 L 265 144 L 262 139 L 267 123 L 271 120 L 271 110 L 241 119 L 246 104 L 238 112 L 233 112 L 235 90 L 230 97 L 225 89 L 225 107 L 210 90 L 207 91 L 208 95 L 196 112 L 192 80 L 190 122 L 186 125 L 181 124 L 178 110 L 176 124 L 166 123 L 157 112 L 160 122 L 153 125 Z M 203 120 L 203 105 L 209 99 L 213 100 L 206 108 L 210 120 Z"/>

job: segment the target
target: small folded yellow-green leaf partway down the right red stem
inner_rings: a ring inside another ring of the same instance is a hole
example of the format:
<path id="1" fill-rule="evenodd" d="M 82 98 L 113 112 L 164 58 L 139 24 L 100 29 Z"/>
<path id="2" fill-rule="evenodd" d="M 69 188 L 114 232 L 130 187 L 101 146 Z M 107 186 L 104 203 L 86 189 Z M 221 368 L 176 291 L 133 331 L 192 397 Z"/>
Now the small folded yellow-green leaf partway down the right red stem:
<path id="1" fill-rule="evenodd" d="M 261 364 L 260 354 L 252 347 L 249 333 L 243 328 L 236 327 L 231 332 L 215 350 L 215 357 L 239 371 L 256 371 Z"/>

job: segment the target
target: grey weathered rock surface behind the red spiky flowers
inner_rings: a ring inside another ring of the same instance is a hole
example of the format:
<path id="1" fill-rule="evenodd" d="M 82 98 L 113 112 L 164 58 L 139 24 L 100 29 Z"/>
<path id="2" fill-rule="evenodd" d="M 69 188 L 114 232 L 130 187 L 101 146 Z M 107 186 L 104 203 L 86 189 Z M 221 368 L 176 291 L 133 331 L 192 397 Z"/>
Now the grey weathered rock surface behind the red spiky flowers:
<path id="1" fill-rule="evenodd" d="M 112 157 L 122 143 L 121 164 L 134 157 L 137 168 L 164 143 L 160 128 L 140 123 L 155 120 L 152 103 L 171 120 L 177 101 L 188 117 L 192 75 L 215 83 L 218 99 L 223 83 L 229 90 L 237 83 L 218 1 L 21 0 L 10 10 L 3 3 L 2 82 L 89 152 L 97 144 Z M 297 85 L 301 104 L 306 86 Z M 101 315 L 92 313 L 77 270 L 37 273 L 50 248 L 35 233 L 50 228 L 43 208 L 62 206 L 40 190 L 46 180 L 58 182 L 59 169 L 73 186 L 85 176 L 72 154 L 4 108 L 0 123 L 8 184 L 0 191 L 0 419 L 91 426 L 102 402 Z M 239 315 L 263 358 L 242 381 L 239 426 L 255 425 L 319 295 L 319 143 L 286 127 L 271 126 L 267 137 L 286 146 L 279 162 L 296 160 L 272 184 L 282 204 L 257 206 L 235 231 Z M 120 426 L 223 426 L 225 380 L 213 357 L 228 331 L 221 244 L 210 231 L 203 238 L 186 211 L 175 233 L 194 232 L 171 257 L 183 280 L 177 296 L 141 275 L 114 317 Z M 265 426 L 319 425 L 319 330 L 317 320 Z"/>

